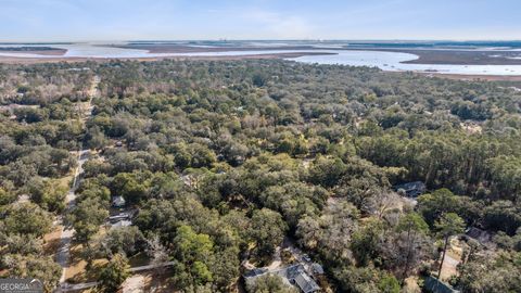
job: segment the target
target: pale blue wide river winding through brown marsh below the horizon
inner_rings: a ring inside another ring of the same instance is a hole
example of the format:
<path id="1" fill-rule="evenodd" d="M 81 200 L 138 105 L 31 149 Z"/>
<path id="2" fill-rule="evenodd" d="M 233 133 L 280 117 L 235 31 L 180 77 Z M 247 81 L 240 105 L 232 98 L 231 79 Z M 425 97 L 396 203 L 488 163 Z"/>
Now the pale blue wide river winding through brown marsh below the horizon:
<path id="1" fill-rule="evenodd" d="M 24 44 L 25 46 L 25 44 Z M 1 46 L 5 47 L 5 46 Z M 399 52 L 380 51 L 348 51 L 348 50 L 258 50 L 258 51 L 226 51 L 226 52 L 195 52 L 195 53 L 149 53 L 147 50 L 123 49 L 102 47 L 93 44 L 56 44 L 55 48 L 67 49 L 61 58 L 161 58 L 161 56 L 238 56 L 238 55 L 260 55 L 280 53 L 332 53 L 323 55 L 304 55 L 293 58 L 296 62 L 318 64 L 341 64 L 352 66 L 371 66 L 391 72 L 436 72 L 441 74 L 463 74 L 463 75 L 521 75 L 521 65 L 449 65 L 449 64 L 406 64 L 404 61 L 418 59 L 417 55 Z M 0 56 L 16 58 L 56 58 L 52 55 L 39 55 L 31 53 L 7 53 L 0 52 Z"/>

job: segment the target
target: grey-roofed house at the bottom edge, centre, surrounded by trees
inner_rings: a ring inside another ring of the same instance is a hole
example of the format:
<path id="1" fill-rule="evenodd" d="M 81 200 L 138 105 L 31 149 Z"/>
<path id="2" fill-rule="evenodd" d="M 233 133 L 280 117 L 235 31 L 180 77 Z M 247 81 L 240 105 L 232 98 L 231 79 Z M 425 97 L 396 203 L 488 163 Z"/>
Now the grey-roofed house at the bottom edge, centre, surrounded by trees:
<path id="1" fill-rule="evenodd" d="M 251 283 L 255 282 L 256 278 L 266 273 L 274 273 L 280 276 L 282 280 L 284 280 L 288 284 L 298 288 L 303 293 L 313 293 L 320 291 L 320 286 L 317 284 L 317 282 L 315 282 L 315 280 L 312 279 L 312 277 L 309 277 L 309 275 L 304 269 L 304 266 L 301 264 L 292 265 L 277 270 L 251 270 L 247 273 L 243 275 L 243 277 L 246 283 Z"/>

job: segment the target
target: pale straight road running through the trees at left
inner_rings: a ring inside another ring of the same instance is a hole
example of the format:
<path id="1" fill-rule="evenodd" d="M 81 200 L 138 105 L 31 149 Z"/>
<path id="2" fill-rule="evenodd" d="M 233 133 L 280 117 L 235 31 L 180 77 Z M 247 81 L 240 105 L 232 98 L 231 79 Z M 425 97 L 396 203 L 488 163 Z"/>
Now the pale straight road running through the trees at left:
<path id="1" fill-rule="evenodd" d="M 92 79 L 92 85 L 89 90 L 89 101 L 87 103 L 87 109 L 81 109 L 78 106 L 80 112 L 80 119 L 85 123 L 86 119 L 92 114 L 92 98 L 98 94 L 98 84 L 100 82 L 100 78 L 96 76 Z M 76 205 L 76 190 L 79 187 L 79 181 L 81 180 L 81 176 L 84 174 L 84 164 L 89 160 L 90 150 L 88 148 L 82 148 L 81 151 L 78 152 L 78 165 L 76 167 L 73 186 L 67 192 L 65 196 L 66 208 L 65 211 L 71 211 Z M 61 216 L 58 220 L 59 224 L 63 222 L 63 216 Z M 56 263 L 60 264 L 62 267 L 62 277 L 60 278 L 60 283 L 63 284 L 65 282 L 65 270 L 68 267 L 69 260 L 69 251 L 71 251 L 71 242 L 73 239 L 74 229 L 72 227 L 67 227 L 63 225 L 62 228 L 62 235 L 60 239 L 60 247 L 56 254 Z"/>

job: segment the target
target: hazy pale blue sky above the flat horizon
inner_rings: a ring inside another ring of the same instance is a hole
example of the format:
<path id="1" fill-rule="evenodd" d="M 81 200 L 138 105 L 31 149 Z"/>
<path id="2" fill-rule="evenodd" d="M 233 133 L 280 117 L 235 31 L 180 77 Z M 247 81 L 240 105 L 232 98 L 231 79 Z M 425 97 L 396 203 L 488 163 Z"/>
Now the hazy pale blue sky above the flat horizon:
<path id="1" fill-rule="evenodd" d="M 521 0 L 0 0 L 0 41 L 521 39 Z"/>

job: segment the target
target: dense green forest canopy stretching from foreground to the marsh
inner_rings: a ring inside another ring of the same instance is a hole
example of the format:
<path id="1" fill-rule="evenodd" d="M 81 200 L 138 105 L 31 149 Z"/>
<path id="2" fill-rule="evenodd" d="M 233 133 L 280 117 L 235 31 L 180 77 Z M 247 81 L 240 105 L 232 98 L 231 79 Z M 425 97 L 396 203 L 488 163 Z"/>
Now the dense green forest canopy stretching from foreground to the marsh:
<path id="1" fill-rule="evenodd" d="M 110 259 L 106 276 L 148 252 L 174 262 L 177 289 L 228 292 L 243 260 L 269 264 L 288 238 L 338 292 L 397 292 L 478 227 L 495 249 L 469 244 L 450 283 L 521 291 L 521 92 L 508 85 L 278 60 L 110 61 L 1 65 L 0 103 L 11 276 L 53 264 L 40 256 L 65 208 L 58 182 L 88 146 L 66 218 L 87 262 Z M 409 181 L 428 189 L 417 205 L 392 189 Z M 116 195 L 138 211 L 134 225 L 100 234 Z M 250 291 L 280 286 L 262 282 Z"/>

